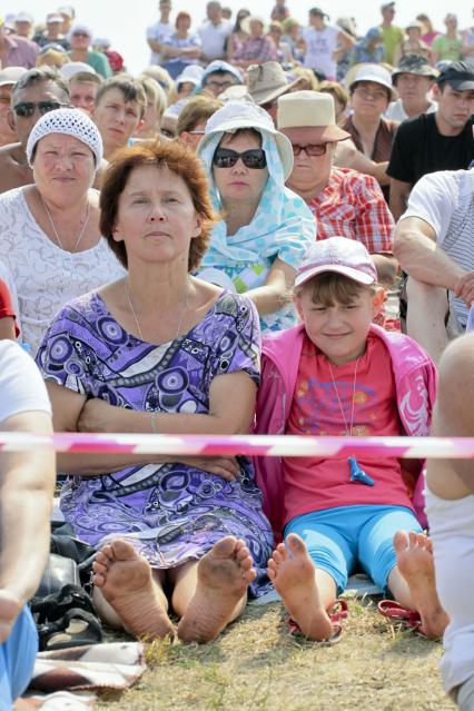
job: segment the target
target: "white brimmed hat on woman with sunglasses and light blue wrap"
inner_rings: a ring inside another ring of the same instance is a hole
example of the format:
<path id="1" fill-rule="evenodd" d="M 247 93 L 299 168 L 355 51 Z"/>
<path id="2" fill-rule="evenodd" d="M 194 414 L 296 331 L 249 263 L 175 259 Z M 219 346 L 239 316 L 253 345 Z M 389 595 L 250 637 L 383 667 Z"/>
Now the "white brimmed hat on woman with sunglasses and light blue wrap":
<path id="1" fill-rule="evenodd" d="M 286 180 L 293 170 L 292 144 L 286 136 L 277 131 L 269 113 L 256 103 L 229 101 L 221 109 L 218 109 L 206 124 L 206 132 L 199 142 L 199 151 L 203 151 L 216 134 L 234 134 L 243 128 L 266 131 L 273 137 Z"/>

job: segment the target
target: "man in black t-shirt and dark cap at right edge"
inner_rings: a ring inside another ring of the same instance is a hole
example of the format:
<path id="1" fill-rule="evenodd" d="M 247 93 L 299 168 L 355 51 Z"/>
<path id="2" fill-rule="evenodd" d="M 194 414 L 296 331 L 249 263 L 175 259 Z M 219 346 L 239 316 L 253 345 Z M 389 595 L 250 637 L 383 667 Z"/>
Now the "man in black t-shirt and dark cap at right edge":
<path id="1" fill-rule="evenodd" d="M 387 172 L 395 219 L 422 176 L 467 168 L 473 158 L 474 68 L 451 62 L 437 77 L 433 98 L 437 110 L 405 121 L 394 139 Z"/>

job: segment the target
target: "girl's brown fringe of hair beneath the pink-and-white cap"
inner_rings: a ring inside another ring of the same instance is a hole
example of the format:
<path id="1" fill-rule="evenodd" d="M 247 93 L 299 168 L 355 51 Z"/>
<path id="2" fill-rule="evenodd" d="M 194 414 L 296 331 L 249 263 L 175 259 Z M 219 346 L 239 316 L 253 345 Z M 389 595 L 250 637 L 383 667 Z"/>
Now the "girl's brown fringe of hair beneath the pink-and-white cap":
<path id="1" fill-rule="evenodd" d="M 349 279 L 344 274 L 323 271 L 302 286 L 295 286 L 293 293 L 298 297 L 302 296 L 303 292 L 310 290 L 314 304 L 323 304 L 323 306 L 343 304 L 347 306 L 364 292 L 375 295 L 377 288 L 379 288 L 377 284 L 367 286 L 355 282 L 355 279 Z"/>

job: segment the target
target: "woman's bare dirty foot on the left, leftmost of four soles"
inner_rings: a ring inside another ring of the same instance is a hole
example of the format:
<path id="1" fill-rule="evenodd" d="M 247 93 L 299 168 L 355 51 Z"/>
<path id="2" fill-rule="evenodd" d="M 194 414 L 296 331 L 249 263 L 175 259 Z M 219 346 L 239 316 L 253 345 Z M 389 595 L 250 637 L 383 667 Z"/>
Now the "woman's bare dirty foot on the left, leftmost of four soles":
<path id="1" fill-rule="evenodd" d="M 156 640 L 174 635 L 175 629 L 162 609 L 148 561 L 128 541 L 112 541 L 96 553 L 93 584 L 99 587 L 121 620 L 137 638 Z"/>

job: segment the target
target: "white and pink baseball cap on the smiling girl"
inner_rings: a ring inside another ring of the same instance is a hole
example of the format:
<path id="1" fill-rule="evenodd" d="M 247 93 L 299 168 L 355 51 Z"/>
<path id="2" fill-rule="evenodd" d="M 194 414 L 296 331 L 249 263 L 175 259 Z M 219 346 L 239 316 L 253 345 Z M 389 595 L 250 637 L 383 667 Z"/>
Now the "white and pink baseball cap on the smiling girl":
<path id="1" fill-rule="evenodd" d="M 346 237 L 329 237 L 309 247 L 296 274 L 295 286 L 324 271 L 343 274 L 359 284 L 377 282 L 377 269 L 367 249 L 361 241 Z"/>

